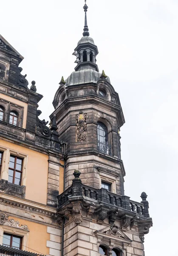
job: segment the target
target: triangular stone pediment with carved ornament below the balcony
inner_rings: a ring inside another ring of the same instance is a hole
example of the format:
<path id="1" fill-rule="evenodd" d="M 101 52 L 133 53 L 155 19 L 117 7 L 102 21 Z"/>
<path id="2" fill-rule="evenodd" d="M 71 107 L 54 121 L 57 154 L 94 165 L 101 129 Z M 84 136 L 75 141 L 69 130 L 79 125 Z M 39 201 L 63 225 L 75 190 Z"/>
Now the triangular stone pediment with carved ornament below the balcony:
<path id="1" fill-rule="evenodd" d="M 116 225 L 112 225 L 110 227 L 105 227 L 104 229 L 96 231 L 96 232 L 97 232 L 97 234 L 100 234 L 100 235 L 103 234 L 105 236 L 112 236 L 112 238 L 115 237 L 115 238 L 119 238 L 119 239 L 125 239 L 130 242 L 132 241 Z"/>

